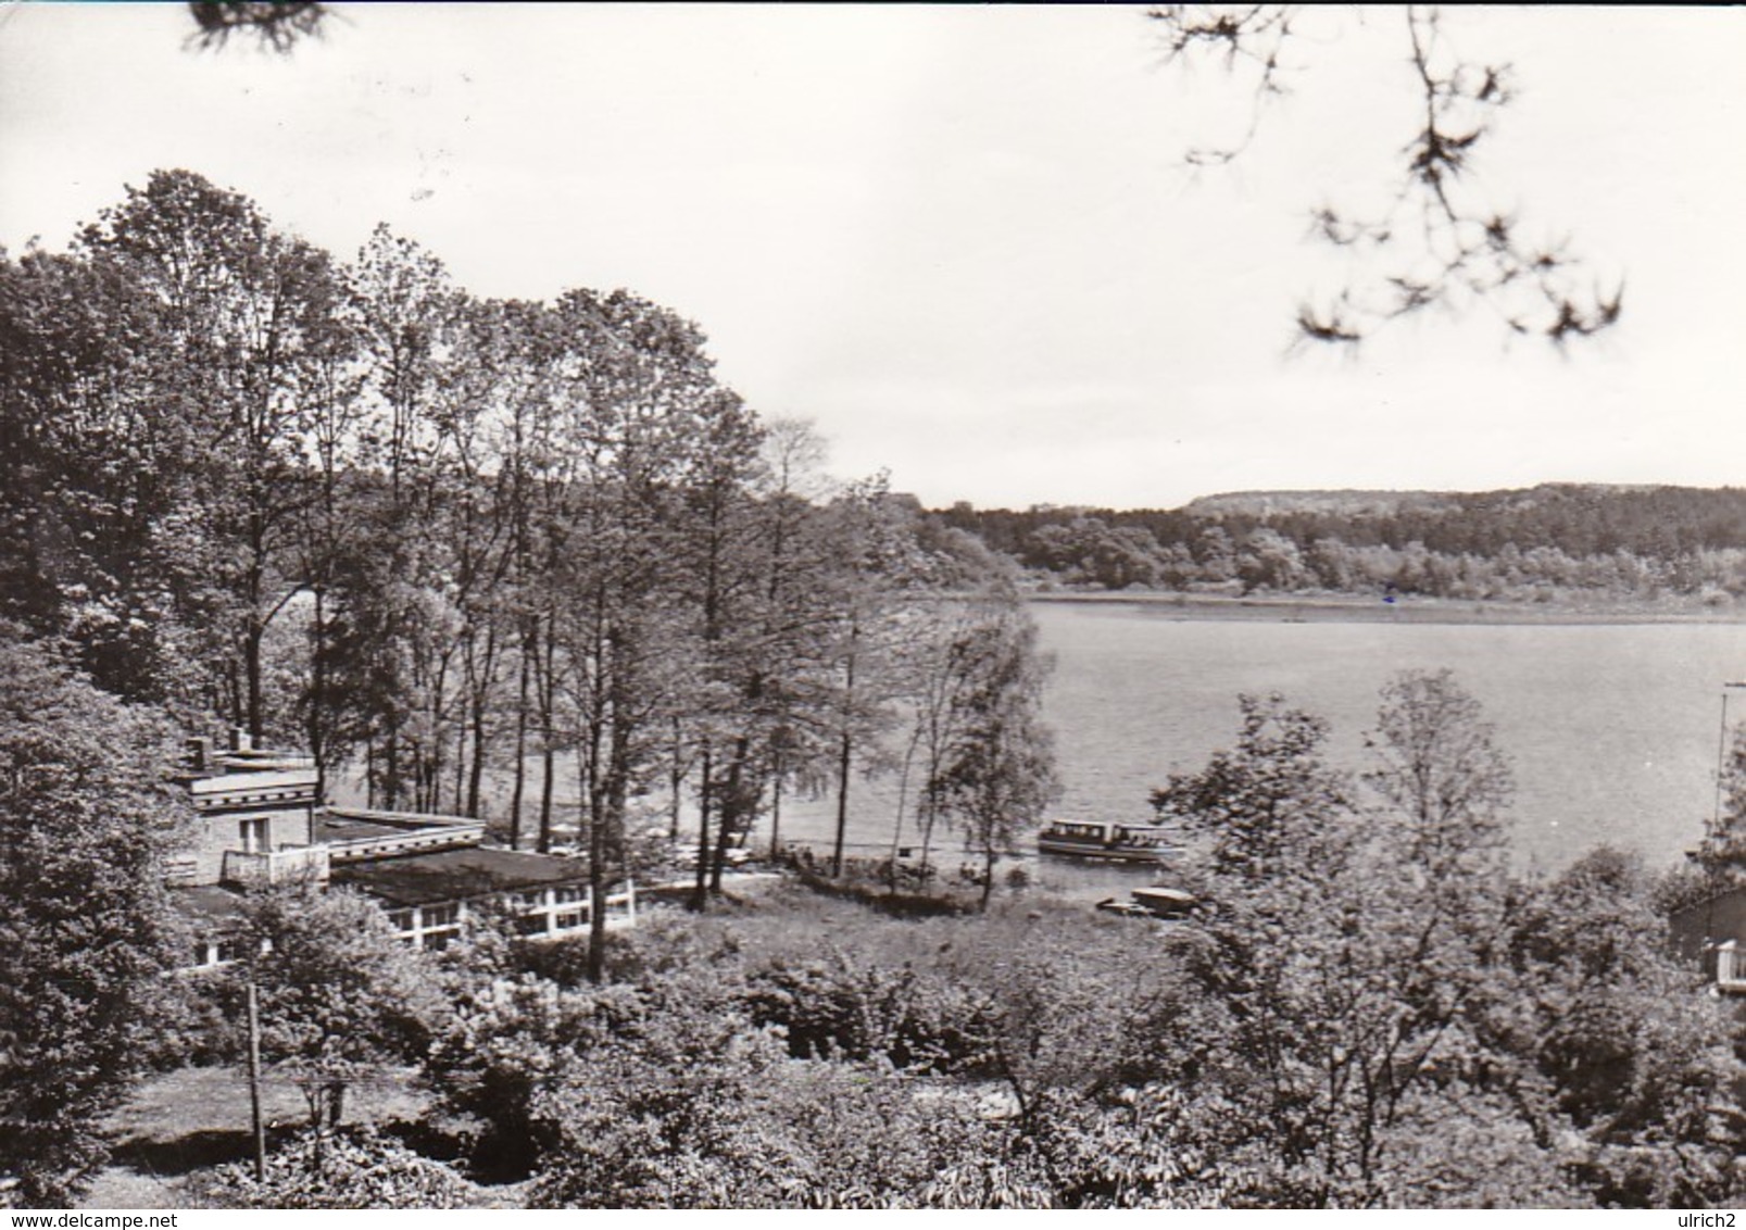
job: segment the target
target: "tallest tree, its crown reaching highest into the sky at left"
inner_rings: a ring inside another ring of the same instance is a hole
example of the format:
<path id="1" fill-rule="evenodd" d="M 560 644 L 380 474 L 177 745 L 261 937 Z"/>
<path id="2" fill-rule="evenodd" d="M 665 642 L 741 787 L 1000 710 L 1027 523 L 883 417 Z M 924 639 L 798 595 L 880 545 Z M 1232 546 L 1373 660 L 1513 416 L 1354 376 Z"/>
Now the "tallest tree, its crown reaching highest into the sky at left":
<path id="1" fill-rule="evenodd" d="M 157 302 L 161 362 L 173 365 L 204 446 L 178 524 L 189 559 L 180 598 L 217 629 L 227 708 L 260 737 L 267 627 L 300 587 L 292 543 L 309 500 L 309 393 L 347 344 L 332 260 L 189 171 L 154 171 L 86 227 L 80 246 L 124 264 Z"/>

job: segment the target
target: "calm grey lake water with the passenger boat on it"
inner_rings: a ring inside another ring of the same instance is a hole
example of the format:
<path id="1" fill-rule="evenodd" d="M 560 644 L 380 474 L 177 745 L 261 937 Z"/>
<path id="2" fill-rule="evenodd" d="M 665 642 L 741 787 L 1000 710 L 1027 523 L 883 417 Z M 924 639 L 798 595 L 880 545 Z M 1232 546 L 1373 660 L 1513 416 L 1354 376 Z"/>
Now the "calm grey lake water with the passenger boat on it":
<path id="1" fill-rule="evenodd" d="M 1516 854 L 1543 870 L 1599 844 L 1678 860 L 1715 809 L 1722 683 L 1746 676 L 1737 624 L 1219 620 L 1058 601 L 1032 613 L 1055 655 L 1044 711 L 1065 786 L 1056 814 L 1144 819 L 1152 786 L 1234 743 L 1240 692 L 1325 716 L 1330 757 L 1360 767 L 1383 683 L 1451 667 L 1514 760 Z M 1729 713 L 1741 718 L 1746 694 Z M 896 790 L 857 781 L 850 798 L 854 853 L 889 846 Z M 784 840 L 828 849 L 833 819 L 833 802 L 789 802 Z M 948 867 L 955 849 L 945 839 Z M 1055 865 L 1044 879 L 1084 879 Z"/>

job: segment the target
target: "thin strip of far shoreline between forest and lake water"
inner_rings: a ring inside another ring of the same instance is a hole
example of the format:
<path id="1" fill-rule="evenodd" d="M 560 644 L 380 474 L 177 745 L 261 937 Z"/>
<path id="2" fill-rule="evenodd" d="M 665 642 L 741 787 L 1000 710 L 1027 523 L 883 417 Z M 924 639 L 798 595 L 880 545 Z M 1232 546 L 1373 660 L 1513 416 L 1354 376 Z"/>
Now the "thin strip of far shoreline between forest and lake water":
<path id="1" fill-rule="evenodd" d="M 1282 624 L 1746 624 L 1737 606 L 1646 606 L 1465 601 L 1400 594 L 1393 601 L 1350 594 L 1186 594 L 1175 591 L 1027 591 L 1027 603 L 1144 606 L 1177 620 L 1268 620 Z"/>

